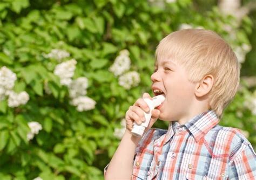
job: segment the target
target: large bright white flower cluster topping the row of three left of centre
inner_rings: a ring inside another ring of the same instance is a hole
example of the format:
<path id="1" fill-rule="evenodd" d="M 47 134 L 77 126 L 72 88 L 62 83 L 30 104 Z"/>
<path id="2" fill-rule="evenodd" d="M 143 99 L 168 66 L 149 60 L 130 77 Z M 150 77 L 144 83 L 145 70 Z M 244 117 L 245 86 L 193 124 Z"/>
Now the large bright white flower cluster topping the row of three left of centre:
<path id="1" fill-rule="evenodd" d="M 76 64 L 77 61 L 75 59 L 71 59 L 69 61 L 60 63 L 55 67 L 53 73 L 55 75 L 58 75 L 58 77 L 60 78 L 60 84 L 65 86 L 69 86 L 71 84 L 71 78 L 74 75 Z"/>

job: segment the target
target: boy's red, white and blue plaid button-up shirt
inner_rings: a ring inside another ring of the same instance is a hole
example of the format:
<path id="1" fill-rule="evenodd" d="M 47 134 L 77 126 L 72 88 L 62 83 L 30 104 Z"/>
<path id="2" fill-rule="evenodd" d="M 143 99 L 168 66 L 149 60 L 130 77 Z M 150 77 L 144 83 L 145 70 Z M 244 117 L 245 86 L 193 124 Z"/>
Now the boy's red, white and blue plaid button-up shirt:
<path id="1" fill-rule="evenodd" d="M 256 179 L 251 143 L 239 129 L 218 123 L 207 110 L 184 125 L 150 129 L 136 148 L 132 179 Z"/>

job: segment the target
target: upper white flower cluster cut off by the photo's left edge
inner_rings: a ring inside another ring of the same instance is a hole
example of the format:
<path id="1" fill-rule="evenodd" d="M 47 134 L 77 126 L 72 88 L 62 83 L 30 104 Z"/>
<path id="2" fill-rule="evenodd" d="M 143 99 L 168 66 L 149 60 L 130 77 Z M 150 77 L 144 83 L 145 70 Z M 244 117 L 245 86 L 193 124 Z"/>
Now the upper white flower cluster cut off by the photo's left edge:
<path id="1" fill-rule="evenodd" d="M 2 91 L 10 90 L 14 87 L 17 77 L 14 72 L 9 70 L 9 68 L 3 66 L 0 70 L 0 88 Z"/>

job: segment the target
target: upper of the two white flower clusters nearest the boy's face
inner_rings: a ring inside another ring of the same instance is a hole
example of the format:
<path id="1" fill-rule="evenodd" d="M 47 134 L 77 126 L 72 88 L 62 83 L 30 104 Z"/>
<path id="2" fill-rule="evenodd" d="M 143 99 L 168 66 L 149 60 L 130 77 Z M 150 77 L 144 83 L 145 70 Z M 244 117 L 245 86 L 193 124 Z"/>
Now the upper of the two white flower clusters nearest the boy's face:
<path id="1" fill-rule="evenodd" d="M 116 57 L 114 63 L 109 68 L 109 71 L 114 73 L 117 77 L 118 75 L 123 74 L 125 71 L 129 70 L 131 66 L 131 60 L 129 57 L 129 51 L 122 50 L 119 52 L 119 56 Z"/>

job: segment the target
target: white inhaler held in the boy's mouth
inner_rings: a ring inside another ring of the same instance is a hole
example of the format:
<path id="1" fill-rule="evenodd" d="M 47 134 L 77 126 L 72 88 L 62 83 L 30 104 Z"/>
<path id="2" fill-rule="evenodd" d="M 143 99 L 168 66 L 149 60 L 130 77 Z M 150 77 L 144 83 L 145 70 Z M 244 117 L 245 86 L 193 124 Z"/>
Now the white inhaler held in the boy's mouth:
<path id="1" fill-rule="evenodd" d="M 149 122 L 150 122 L 150 119 L 152 116 L 152 110 L 155 107 L 161 105 L 161 103 L 163 103 L 164 100 L 165 100 L 165 96 L 162 94 L 154 96 L 152 98 L 152 100 L 148 99 L 148 98 L 144 99 L 144 101 L 146 101 L 147 105 L 149 106 L 150 110 L 148 113 L 144 112 L 144 116 L 145 116 L 146 120 L 144 122 L 142 122 L 142 124 L 138 125 L 135 121 L 133 122 L 133 127 L 132 127 L 131 133 L 134 136 L 141 137 L 143 135 L 145 128 L 147 128 L 147 126 L 149 126 Z"/>

